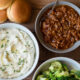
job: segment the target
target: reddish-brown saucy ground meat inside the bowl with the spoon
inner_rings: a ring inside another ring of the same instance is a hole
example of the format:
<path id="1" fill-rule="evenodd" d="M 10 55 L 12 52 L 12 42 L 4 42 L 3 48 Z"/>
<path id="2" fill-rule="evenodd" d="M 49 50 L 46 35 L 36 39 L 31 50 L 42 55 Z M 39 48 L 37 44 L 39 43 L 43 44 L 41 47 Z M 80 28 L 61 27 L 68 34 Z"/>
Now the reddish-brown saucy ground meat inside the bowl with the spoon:
<path id="1" fill-rule="evenodd" d="M 49 10 L 42 18 L 46 17 Z M 41 20 L 41 31 L 44 40 L 53 48 L 70 48 L 80 39 L 80 16 L 67 5 L 57 6 L 49 17 Z"/>

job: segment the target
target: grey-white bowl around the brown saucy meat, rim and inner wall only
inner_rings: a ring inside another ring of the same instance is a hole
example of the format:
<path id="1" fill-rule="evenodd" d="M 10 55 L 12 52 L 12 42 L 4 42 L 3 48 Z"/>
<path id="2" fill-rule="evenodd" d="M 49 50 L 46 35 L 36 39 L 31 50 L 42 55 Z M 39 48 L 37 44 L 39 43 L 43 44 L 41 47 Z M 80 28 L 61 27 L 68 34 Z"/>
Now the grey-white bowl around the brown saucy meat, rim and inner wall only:
<path id="1" fill-rule="evenodd" d="M 49 8 L 51 8 L 53 5 L 55 4 L 55 2 L 53 3 L 50 3 L 49 5 L 45 6 L 44 8 L 41 9 L 41 11 L 39 12 L 37 18 L 36 18 L 36 21 L 35 21 L 35 32 L 36 32 L 36 35 L 39 39 L 39 41 L 41 42 L 41 44 L 48 50 L 52 51 L 52 52 L 56 52 L 56 53 L 67 53 L 67 52 L 70 52 L 70 51 L 73 51 L 74 49 L 76 49 L 77 47 L 80 46 L 80 41 L 79 42 L 76 42 L 71 48 L 68 48 L 68 49 L 65 49 L 65 50 L 59 50 L 59 49 L 55 49 L 53 47 L 51 47 L 51 45 L 49 45 L 48 43 L 46 43 L 43 39 L 43 35 L 42 35 L 42 32 L 40 30 L 40 19 L 42 17 L 42 15 L 44 14 L 45 11 L 47 11 Z M 68 5 L 70 7 L 72 7 L 75 11 L 77 11 L 77 13 L 80 15 L 80 9 L 70 3 L 70 2 L 66 2 L 66 1 L 59 1 L 59 4 L 58 5 Z"/>

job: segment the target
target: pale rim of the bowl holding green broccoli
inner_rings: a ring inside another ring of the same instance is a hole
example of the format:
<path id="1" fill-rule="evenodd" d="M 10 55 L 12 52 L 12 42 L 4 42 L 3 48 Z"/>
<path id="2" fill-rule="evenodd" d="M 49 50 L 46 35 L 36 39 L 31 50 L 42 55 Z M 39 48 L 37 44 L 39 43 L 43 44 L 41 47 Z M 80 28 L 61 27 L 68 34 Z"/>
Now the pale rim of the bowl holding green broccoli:
<path id="1" fill-rule="evenodd" d="M 51 63 L 52 61 L 55 61 L 55 60 L 63 60 L 63 61 L 67 61 L 67 62 L 72 61 L 74 64 L 80 66 L 80 64 L 76 60 L 74 60 L 74 59 L 71 59 L 71 58 L 68 58 L 68 57 L 54 57 L 54 58 L 48 59 L 48 60 L 46 60 L 46 61 L 44 61 L 43 63 L 40 64 L 40 66 L 36 69 L 36 71 L 35 71 L 35 73 L 33 75 L 32 80 L 35 80 L 36 75 L 38 74 L 38 72 L 40 71 L 42 66 L 44 66 L 47 63 Z"/>

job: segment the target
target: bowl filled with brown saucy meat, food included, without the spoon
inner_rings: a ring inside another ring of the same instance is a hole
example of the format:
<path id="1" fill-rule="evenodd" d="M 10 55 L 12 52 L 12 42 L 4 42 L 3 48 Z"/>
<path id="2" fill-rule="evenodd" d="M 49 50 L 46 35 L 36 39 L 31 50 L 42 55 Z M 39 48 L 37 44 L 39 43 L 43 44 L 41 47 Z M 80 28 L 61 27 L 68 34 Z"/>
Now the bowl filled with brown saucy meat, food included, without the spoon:
<path id="1" fill-rule="evenodd" d="M 80 45 L 80 9 L 60 1 L 46 17 L 55 2 L 43 7 L 35 21 L 35 32 L 41 44 L 56 53 L 73 51 Z"/>

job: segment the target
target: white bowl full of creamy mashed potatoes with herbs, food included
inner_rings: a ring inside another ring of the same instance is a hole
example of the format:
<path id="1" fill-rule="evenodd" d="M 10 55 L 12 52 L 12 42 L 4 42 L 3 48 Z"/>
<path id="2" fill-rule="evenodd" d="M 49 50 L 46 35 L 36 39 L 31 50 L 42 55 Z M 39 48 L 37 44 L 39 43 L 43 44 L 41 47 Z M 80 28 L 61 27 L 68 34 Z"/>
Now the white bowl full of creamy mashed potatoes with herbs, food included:
<path id="1" fill-rule="evenodd" d="M 0 25 L 0 80 L 22 80 L 35 69 L 39 46 L 34 35 L 14 23 Z"/>

